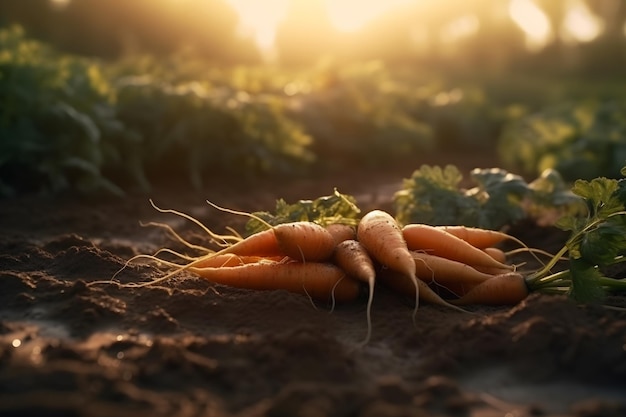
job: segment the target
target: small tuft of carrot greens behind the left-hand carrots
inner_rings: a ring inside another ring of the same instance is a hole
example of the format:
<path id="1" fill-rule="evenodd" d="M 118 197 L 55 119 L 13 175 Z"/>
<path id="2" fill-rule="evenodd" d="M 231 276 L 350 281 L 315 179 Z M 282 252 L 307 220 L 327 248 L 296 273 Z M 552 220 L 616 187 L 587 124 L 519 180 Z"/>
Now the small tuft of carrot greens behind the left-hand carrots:
<path id="1" fill-rule="evenodd" d="M 315 200 L 300 200 L 294 204 L 279 199 L 276 201 L 274 213 L 253 214 L 273 226 L 297 221 L 311 221 L 322 226 L 334 223 L 356 226 L 360 213 L 361 210 L 357 207 L 354 197 L 335 190 L 332 195 L 318 197 Z M 251 234 L 265 229 L 265 224 L 255 219 L 250 219 L 246 224 L 246 231 Z"/>

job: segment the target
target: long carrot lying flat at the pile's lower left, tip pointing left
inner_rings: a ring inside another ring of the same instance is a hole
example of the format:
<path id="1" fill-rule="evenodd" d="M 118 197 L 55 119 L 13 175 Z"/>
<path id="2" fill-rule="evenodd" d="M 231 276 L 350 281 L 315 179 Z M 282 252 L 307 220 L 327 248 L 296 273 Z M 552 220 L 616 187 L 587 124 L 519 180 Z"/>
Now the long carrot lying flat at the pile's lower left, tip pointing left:
<path id="1" fill-rule="evenodd" d="M 359 283 L 333 264 L 318 262 L 251 263 L 226 268 L 187 270 L 216 284 L 251 290 L 286 290 L 315 300 L 346 302 L 359 295 Z"/>

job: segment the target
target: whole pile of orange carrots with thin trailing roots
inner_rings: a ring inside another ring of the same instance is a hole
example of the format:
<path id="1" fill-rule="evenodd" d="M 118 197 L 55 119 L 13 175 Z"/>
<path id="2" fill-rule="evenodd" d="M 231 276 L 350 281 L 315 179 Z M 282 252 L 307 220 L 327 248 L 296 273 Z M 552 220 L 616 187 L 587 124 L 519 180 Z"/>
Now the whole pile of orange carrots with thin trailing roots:
<path id="1" fill-rule="evenodd" d="M 209 204 L 265 223 L 254 214 Z M 321 226 L 310 221 L 277 226 L 265 223 L 266 230 L 242 238 L 234 231 L 216 234 L 184 213 L 154 207 L 196 222 L 219 246 L 212 250 L 192 245 L 169 226 L 161 225 L 186 246 L 204 254 L 188 257 L 161 249 L 154 255 L 138 255 L 129 262 L 149 258 L 172 270 L 157 280 L 129 286 L 152 285 L 189 271 L 217 284 L 282 289 L 333 304 L 356 300 L 367 288 L 366 340 L 371 335 L 376 282 L 414 298 L 414 319 L 420 300 L 460 310 L 458 306 L 468 304 L 514 304 L 531 290 L 524 275 L 507 264 L 505 253 L 496 247 L 514 239 L 502 232 L 461 226 L 401 226 L 389 213 L 373 210 L 356 227 L 338 223 Z M 161 252 L 174 254 L 181 262 L 161 259 Z"/>

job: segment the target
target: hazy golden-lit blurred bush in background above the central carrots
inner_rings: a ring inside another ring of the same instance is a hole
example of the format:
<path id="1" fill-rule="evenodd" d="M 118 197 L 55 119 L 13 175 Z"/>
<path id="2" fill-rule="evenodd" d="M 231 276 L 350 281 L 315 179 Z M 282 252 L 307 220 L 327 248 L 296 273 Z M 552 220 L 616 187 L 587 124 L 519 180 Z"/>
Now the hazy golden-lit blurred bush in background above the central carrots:
<path id="1" fill-rule="evenodd" d="M 322 164 L 383 166 L 435 145 L 432 129 L 412 114 L 411 90 L 378 62 L 322 66 L 291 102 Z"/>

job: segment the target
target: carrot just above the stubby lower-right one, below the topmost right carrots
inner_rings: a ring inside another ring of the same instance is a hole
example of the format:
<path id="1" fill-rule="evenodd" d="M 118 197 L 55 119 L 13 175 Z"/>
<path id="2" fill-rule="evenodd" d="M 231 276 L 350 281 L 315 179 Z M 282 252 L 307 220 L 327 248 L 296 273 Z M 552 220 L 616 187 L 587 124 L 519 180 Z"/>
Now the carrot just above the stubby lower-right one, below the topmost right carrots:
<path id="1" fill-rule="evenodd" d="M 415 260 L 417 277 L 426 283 L 436 282 L 443 286 L 449 283 L 480 284 L 493 276 L 452 259 L 441 258 L 422 252 L 411 252 Z"/>

